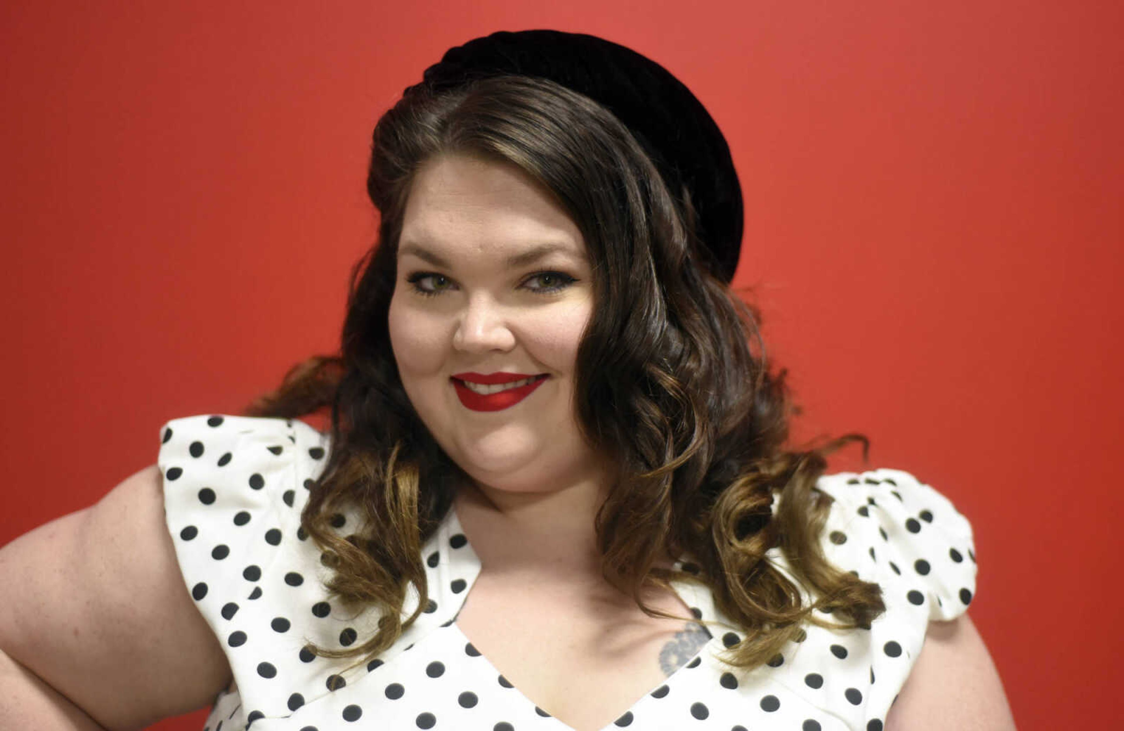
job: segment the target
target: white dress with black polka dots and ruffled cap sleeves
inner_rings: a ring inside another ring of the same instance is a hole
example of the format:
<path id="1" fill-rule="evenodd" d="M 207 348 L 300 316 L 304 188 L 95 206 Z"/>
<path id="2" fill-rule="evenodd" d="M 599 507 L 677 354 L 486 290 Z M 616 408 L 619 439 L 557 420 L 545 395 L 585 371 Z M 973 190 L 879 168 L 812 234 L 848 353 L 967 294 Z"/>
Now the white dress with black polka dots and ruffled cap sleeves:
<path id="1" fill-rule="evenodd" d="M 345 614 L 300 530 L 328 437 L 299 421 L 192 416 L 169 422 L 158 464 L 184 580 L 226 652 L 237 689 L 216 698 L 207 731 L 569 731 L 514 687 L 461 632 L 456 614 L 480 561 L 450 511 L 424 549 L 432 599 L 381 657 L 314 657 L 347 647 L 378 616 Z M 716 656 L 741 639 L 707 589 L 674 588 L 711 640 L 605 731 L 877 731 L 921 651 L 930 620 L 962 614 L 976 588 L 969 522 L 898 470 L 821 478 L 835 498 L 823 533 L 834 565 L 883 589 L 869 630 L 808 626 L 768 666 L 742 674 Z M 346 534 L 353 516 L 334 525 Z M 779 551 L 770 559 L 787 571 Z M 408 597 L 413 612 L 417 595 Z M 631 707 L 626 704 L 633 701 Z"/>

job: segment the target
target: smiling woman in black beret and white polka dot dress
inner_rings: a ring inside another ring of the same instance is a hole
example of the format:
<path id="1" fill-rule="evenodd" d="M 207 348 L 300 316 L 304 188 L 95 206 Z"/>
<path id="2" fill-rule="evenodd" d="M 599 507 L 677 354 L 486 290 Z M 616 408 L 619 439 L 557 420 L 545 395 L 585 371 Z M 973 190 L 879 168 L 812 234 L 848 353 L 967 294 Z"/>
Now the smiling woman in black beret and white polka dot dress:
<path id="1" fill-rule="evenodd" d="M 0 552 L 6 728 L 1013 728 L 967 520 L 823 476 L 859 437 L 783 448 L 736 174 L 673 76 L 470 42 L 368 187 L 338 358 Z"/>

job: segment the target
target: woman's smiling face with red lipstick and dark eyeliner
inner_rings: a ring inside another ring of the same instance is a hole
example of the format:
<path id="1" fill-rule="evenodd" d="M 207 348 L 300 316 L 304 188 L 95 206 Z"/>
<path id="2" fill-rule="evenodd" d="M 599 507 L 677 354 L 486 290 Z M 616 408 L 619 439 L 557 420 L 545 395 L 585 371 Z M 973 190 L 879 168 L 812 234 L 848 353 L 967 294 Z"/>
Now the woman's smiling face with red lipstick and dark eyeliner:
<path id="1" fill-rule="evenodd" d="M 414 408 L 479 485 L 550 491 L 599 469 L 574 418 L 592 310 L 581 233 L 518 168 L 447 155 L 418 170 L 390 341 Z"/>

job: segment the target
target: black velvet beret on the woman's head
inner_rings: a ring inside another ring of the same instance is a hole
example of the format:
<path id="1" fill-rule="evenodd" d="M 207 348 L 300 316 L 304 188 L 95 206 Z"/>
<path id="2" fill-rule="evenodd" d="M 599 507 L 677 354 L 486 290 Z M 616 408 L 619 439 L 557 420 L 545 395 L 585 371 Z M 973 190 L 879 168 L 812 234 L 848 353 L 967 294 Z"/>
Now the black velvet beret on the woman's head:
<path id="1" fill-rule="evenodd" d="M 423 84 L 444 90 L 472 79 L 549 79 L 593 99 L 633 133 L 673 196 L 682 186 L 714 274 L 734 278 L 742 245 L 742 187 L 729 146 L 703 103 L 660 64 L 609 40 L 560 30 L 501 30 L 450 48 Z"/>

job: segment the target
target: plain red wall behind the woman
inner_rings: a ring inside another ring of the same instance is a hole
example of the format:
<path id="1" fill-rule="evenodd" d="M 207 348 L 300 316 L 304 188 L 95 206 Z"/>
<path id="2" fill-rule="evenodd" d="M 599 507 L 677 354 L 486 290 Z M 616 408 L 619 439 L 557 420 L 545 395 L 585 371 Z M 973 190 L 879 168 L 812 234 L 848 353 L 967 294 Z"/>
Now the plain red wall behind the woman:
<path id="1" fill-rule="evenodd" d="M 971 615 L 1019 727 L 1109 722 L 1118 3 L 248 6 L 0 9 L 0 541 L 152 463 L 165 419 L 333 349 L 375 231 L 371 127 L 446 47 L 580 30 L 663 63 L 725 130 L 737 283 L 798 434 L 864 432 L 973 522 Z"/>

